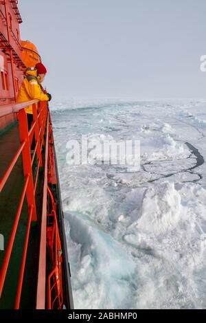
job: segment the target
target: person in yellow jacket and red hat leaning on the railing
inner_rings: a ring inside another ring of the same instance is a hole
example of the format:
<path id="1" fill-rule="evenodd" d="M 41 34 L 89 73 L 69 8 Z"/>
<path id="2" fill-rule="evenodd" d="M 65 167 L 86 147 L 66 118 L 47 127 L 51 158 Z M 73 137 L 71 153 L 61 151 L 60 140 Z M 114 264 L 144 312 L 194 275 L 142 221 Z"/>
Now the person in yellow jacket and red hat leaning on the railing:
<path id="1" fill-rule="evenodd" d="M 42 63 L 37 63 L 35 67 L 28 67 L 25 70 L 25 77 L 21 83 L 16 102 L 27 102 L 30 100 L 40 100 L 40 101 L 50 101 L 52 96 L 49 93 L 44 93 L 43 87 L 41 87 L 41 82 L 45 78 L 47 69 Z M 25 108 L 27 113 L 27 124 L 30 130 L 33 121 L 32 105 Z M 34 140 L 32 141 L 31 149 L 34 149 Z"/>

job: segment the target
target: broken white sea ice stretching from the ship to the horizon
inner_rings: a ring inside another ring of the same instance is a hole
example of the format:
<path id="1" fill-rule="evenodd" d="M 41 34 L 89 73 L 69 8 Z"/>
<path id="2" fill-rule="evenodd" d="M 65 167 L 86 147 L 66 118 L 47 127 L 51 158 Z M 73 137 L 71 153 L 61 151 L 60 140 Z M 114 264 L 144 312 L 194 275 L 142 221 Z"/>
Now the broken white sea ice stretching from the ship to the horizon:
<path id="1" fill-rule="evenodd" d="M 185 144 L 206 159 L 205 109 L 187 100 L 54 104 L 76 308 L 206 308 L 206 168 Z M 140 140 L 141 170 L 68 166 L 66 143 L 82 134 Z"/>

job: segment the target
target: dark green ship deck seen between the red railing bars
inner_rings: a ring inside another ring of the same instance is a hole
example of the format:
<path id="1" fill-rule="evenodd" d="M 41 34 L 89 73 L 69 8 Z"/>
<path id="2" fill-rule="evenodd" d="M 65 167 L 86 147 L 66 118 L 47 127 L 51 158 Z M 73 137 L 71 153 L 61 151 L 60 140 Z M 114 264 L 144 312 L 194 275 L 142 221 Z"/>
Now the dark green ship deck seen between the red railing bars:
<path id="1" fill-rule="evenodd" d="M 12 127 L 5 133 L 0 135 L 0 178 L 5 172 L 5 169 L 10 164 L 14 153 L 19 148 L 19 127 L 18 123 L 14 123 Z M 34 169 L 35 171 L 35 162 Z M 21 191 L 23 189 L 23 165 L 21 156 L 19 157 L 14 169 L 12 170 L 8 181 L 5 183 L 3 191 L 0 194 L 0 233 L 4 236 L 4 246 L 6 247 L 14 216 L 16 214 L 19 203 Z M 30 230 L 30 240 L 27 250 L 27 260 L 25 264 L 25 276 L 23 280 L 23 292 L 21 296 L 21 309 L 34 309 L 36 294 L 36 279 L 38 269 L 38 241 L 40 225 L 41 210 L 42 210 L 42 188 L 43 175 L 40 172 L 38 175 L 38 184 L 36 188 L 36 211 L 38 221 L 32 225 Z M 25 232 L 27 226 L 27 203 L 26 199 L 23 203 L 23 210 L 19 220 L 16 238 L 14 240 L 14 248 L 10 258 L 8 273 L 5 278 L 5 285 L 0 299 L 0 309 L 12 309 L 14 307 L 14 299 L 16 293 L 17 282 L 19 278 L 19 269 L 21 265 L 21 258 L 23 253 L 23 243 L 25 239 Z M 0 267 L 3 261 L 5 252 L 0 251 Z"/>

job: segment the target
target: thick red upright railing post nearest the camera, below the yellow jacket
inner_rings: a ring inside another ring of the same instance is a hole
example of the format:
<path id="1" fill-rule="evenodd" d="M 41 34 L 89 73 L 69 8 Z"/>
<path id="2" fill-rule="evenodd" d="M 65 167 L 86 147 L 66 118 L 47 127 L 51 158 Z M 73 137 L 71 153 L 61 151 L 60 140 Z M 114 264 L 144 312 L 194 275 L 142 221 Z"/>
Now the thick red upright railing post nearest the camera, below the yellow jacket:
<path id="1" fill-rule="evenodd" d="M 27 205 L 28 209 L 33 208 L 32 210 L 32 221 L 37 221 L 36 218 L 36 203 L 34 198 L 34 181 L 32 175 L 32 161 L 30 155 L 30 139 L 28 135 L 28 126 L 27 126 L 27 115 L 25 109 L 19 111 L 19 135 L 20 142 L 25 142 L 25 146 L 22 151 L 22 161 L 23 161 L 23 175 L 26 178 L 29 175 L 29 182 L 26 190 Z"/>

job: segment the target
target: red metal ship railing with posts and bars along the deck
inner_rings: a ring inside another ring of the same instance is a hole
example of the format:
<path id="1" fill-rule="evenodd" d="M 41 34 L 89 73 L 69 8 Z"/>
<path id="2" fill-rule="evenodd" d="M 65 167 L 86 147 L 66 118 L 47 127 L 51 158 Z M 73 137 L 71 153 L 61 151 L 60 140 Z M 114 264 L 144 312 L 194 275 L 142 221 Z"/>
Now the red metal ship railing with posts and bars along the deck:
<path id="1" fill-rule="evenodd" d="M 33 110 L 33 122 L 30 130 L 27 126 L 27 115 L 25 113 L 25 107 L 32 104 Z M 38 109 L 36 109 L 36 107 Z M 41 241 L 40 241 L 40 254 L 39 254 L 39 268 L 38 268 L 38 286 L 37 286 L 37 298 L 38 294 L 41 293 L 42 284 L 44 283 L 45 278 L 45 247 L 46 247 L 46 221 L 47 221 L 47 159 L 48 159 L 48 144 L 49 144 L 49 118 L 47 118 L 47 102 L 38 102 L 38 100 L 32 100 L 30 102 L 23 102 L 19 104 L 9 104 L 6 106 L 1 106 L 0 117 L 7 115 L 11 112 L 18 113 L 19 121 L 19 136 L 20 136 L 20 145 L 17 149 L 12 161 L 10 162 L 8 168 L 3 173 L 3 176 L 0 179 L 0 193 L 5 186 L 5 183 L 8 181 L 10 174 L 16 164 L 16 161 L 19 157 L 22 157 L 23 163 L 23 174 L 24 174 L 24 184 L 23 190 L 21 192 L 21 197 L 19 204 L 16 209 L 16 214 L 14 215 L 14 221 L 12 225 L 12 230 L 8 239 L 8 244 L 5 248 L 5 255 L 3 258 L 3 263 L 0 269 L 0 298 L 3 291 L 3 286 L 5 283 L 5 278 L 8 273 L 8 265 L 10 263 L 10 257 L 12 254 L 12 249 L 14 247 L 14 239 L 16 236 L 17 227 L 19 224 L 19 219 L 21 216 L 21 211 L 23 208 L 23 201 L 26 197 L 27 199 L 27 227 L 25 233 L 25 240 L 23 245 L 23 254 L 21 258 L 21 267 L 19 271 L 19 279 L 16 288 L 16 297 L 14 302 L 14 309 L 19 309 L 21 301 L 21 291 L 23 286 L 23 277 L 25 271 L 25 261 L 27 256 L 27 247 L 30 236 L 30 226 L 32 221 L 37 221 L 36 215 L 36 201 L 35 201 L 35 192 L 36 185 L 38 180 L 38 172 L 43 166 L 42 161 L 42 150 L 43 145 L 45 146 L 45 172 L 44 172 L 44 187 L 43 187 L 43 210 L 42 210 L 42 219 L 41 219 Z M 44 142 L 44 136 L 46 138 Z M 34 153 L 31 154 L 31 144 L 33 137 L 35 139 Z M 36 174 L 32 173 L 32 165 L 34 164 L 34 158 L 36 156 Z M 41 277 L 41 279 L 39 278 Z M 41 299 L 41 300 L 40 300 Z M 37 302 L 41 304 L 43 308 L 43 302 L 45 302 L 45 291 L 41 293 L 41 297 L 37 299 Z"/>

